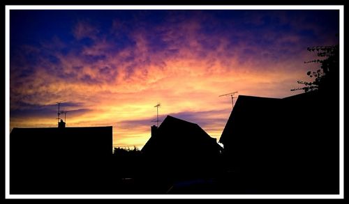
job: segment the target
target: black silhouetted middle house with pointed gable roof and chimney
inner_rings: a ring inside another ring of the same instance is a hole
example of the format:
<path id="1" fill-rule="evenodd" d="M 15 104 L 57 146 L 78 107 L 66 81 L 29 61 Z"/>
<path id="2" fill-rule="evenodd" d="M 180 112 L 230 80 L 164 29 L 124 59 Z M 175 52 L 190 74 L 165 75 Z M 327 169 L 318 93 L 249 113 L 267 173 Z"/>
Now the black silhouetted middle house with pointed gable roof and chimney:
<path id="1" fill-rule="evenodd" d="M 221 150 L 216 139 L 199 125 L 172 116 L 167 116 L 159 127 L 151 127 L 151 137 L 142 148 L 154 163 L 176 173 L 196 171 L 194 168 L 199 166 L 202 171 L 211 168 Z"/>

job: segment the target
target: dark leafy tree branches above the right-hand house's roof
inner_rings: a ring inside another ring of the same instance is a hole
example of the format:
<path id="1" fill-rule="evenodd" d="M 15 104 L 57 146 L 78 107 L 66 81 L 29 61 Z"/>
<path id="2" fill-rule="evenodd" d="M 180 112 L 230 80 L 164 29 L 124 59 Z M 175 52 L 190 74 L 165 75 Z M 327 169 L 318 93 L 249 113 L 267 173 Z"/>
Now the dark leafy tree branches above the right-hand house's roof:
<path id="1" fill-rule="evenodd" d="M 291 91 L 304 90 L 304 92 L 328 89 L 336 85 L 336 76 L 339 72 L 339 45 L 308 47 L 309 52 L 318 52 L 321 59 L 306 61 L 304 63 L 320 63 L 320 69 L 316 72 L 307 72 L 306 74 L 315 78 L 314 81 L 297 81 L 303 84 L 302 88 L 294 88 Z"/>

